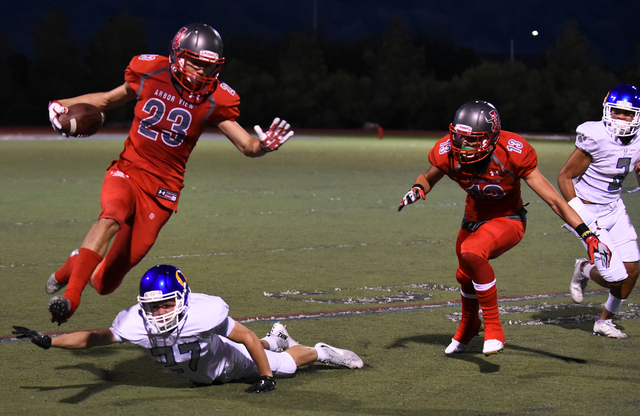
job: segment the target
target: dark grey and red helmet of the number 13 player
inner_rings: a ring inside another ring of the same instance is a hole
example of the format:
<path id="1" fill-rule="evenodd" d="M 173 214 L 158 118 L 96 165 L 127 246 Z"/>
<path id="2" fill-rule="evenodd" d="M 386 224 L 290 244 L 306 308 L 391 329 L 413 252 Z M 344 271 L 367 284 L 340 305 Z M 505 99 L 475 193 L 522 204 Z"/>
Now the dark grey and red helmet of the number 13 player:
<path id="1" fill-rule="evenodd" d="M 470 101 L 449 125 L 451 151 L 461 164 L 476 163 L 493 153 L 500 134 L 500 116 L 493 104 Z"/>

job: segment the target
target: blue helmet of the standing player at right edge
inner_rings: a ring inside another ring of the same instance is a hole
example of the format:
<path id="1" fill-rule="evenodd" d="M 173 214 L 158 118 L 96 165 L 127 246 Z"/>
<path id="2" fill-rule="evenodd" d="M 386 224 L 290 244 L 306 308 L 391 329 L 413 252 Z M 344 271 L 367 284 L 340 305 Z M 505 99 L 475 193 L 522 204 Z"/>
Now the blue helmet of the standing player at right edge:
<path id="1" fill-rule="evenodd" d="M 602 121 L 607 129 L 618 137 L 633 136 L 640 128 L 640 96 L 633 85 L 621 84 L 614 87 L 602 103 Z M 633 120 L 619 120 L 611 117 L 612 109 L 633 113 Z"/>

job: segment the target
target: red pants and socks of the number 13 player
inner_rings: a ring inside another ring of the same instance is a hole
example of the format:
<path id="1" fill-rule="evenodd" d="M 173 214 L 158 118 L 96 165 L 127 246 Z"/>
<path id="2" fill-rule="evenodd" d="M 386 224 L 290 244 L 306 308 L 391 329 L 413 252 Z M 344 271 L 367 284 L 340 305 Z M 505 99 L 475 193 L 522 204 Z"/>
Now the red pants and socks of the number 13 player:
<path id="1" fill-rule="evenodd" d="M 473 299 L 462 299 L 462 320 L 454 337 L 457 340 L 468 342 L 470 337 L 477 334 L 477 309 L 471 309 L 477 308 L 475 305 L 479 304 L 484 318 L 485 340 L 497 339 L 504 342 L 504 332 L 498 315 L 495 273 L 489 260 L 499 257 L 517 245 L 522 240 L 525 229 L 526 223 L 500 217 L 484 223 L 476 231 L 461 229 L 458 233 L 456 279 L 465 294 L 477 296 L 477 303 Z M 473 331 L 475 333 L 472 333 Z"/>

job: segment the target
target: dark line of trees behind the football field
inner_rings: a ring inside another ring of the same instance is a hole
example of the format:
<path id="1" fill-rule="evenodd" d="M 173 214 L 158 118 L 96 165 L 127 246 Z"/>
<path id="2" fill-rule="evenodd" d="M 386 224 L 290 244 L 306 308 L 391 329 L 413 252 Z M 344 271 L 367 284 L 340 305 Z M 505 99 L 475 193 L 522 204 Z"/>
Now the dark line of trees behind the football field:
<path id="1" fill-rule="evenodd" d="M 123 82 L 135 55 L 150 51 L 146 25 L 128 13 L 109 21 L 84 50 L 70 38 L 67 17 L 52 8 L 33 33 L 34 59 L 11 49 L 0 32 L 0 125 L 47 126 L 51 99 L 106 91 Z M 220 79 L 242 98 L 243 125 L 274 116 L 296 128 L 444 130 L 464 102 L 494 103 L 507 130 L 570 133 L 600 119 L 606 92 L 636 85 L 640 63 L 611 68 L 569 21 L 539 56 L 486 56 L 446 39 L 416 36 L 395 18 L 386 31 L 358 42 L 326 42 L 313 33 L 285 39 L 225 36 Z M 630 45 L 631 46 L 631 45 Z M 635 48 L 635 45 L 634 45 Z M 630 50 L 636 55 L 636 50 Z M 133 103 L 107 113 L 128 126 Z"/>

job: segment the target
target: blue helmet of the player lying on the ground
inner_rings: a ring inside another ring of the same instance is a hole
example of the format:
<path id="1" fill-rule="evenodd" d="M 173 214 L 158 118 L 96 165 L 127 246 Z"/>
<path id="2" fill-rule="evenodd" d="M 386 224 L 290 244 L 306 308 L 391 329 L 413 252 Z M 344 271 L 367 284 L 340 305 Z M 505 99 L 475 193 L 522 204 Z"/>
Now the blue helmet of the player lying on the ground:
<path id="1" fill-rule="evenodd" d="M 187 311 L 190 291 L 187 279 L 177 267 L 162 264 L 147 270 L 140 280 L 138 296 L 138 303 L 148 323 L 147 330 L 162 334 L 176 328 Z M 170 300 L 176 304 L 173 310 L 154 316 L 159 302 Z"/>

